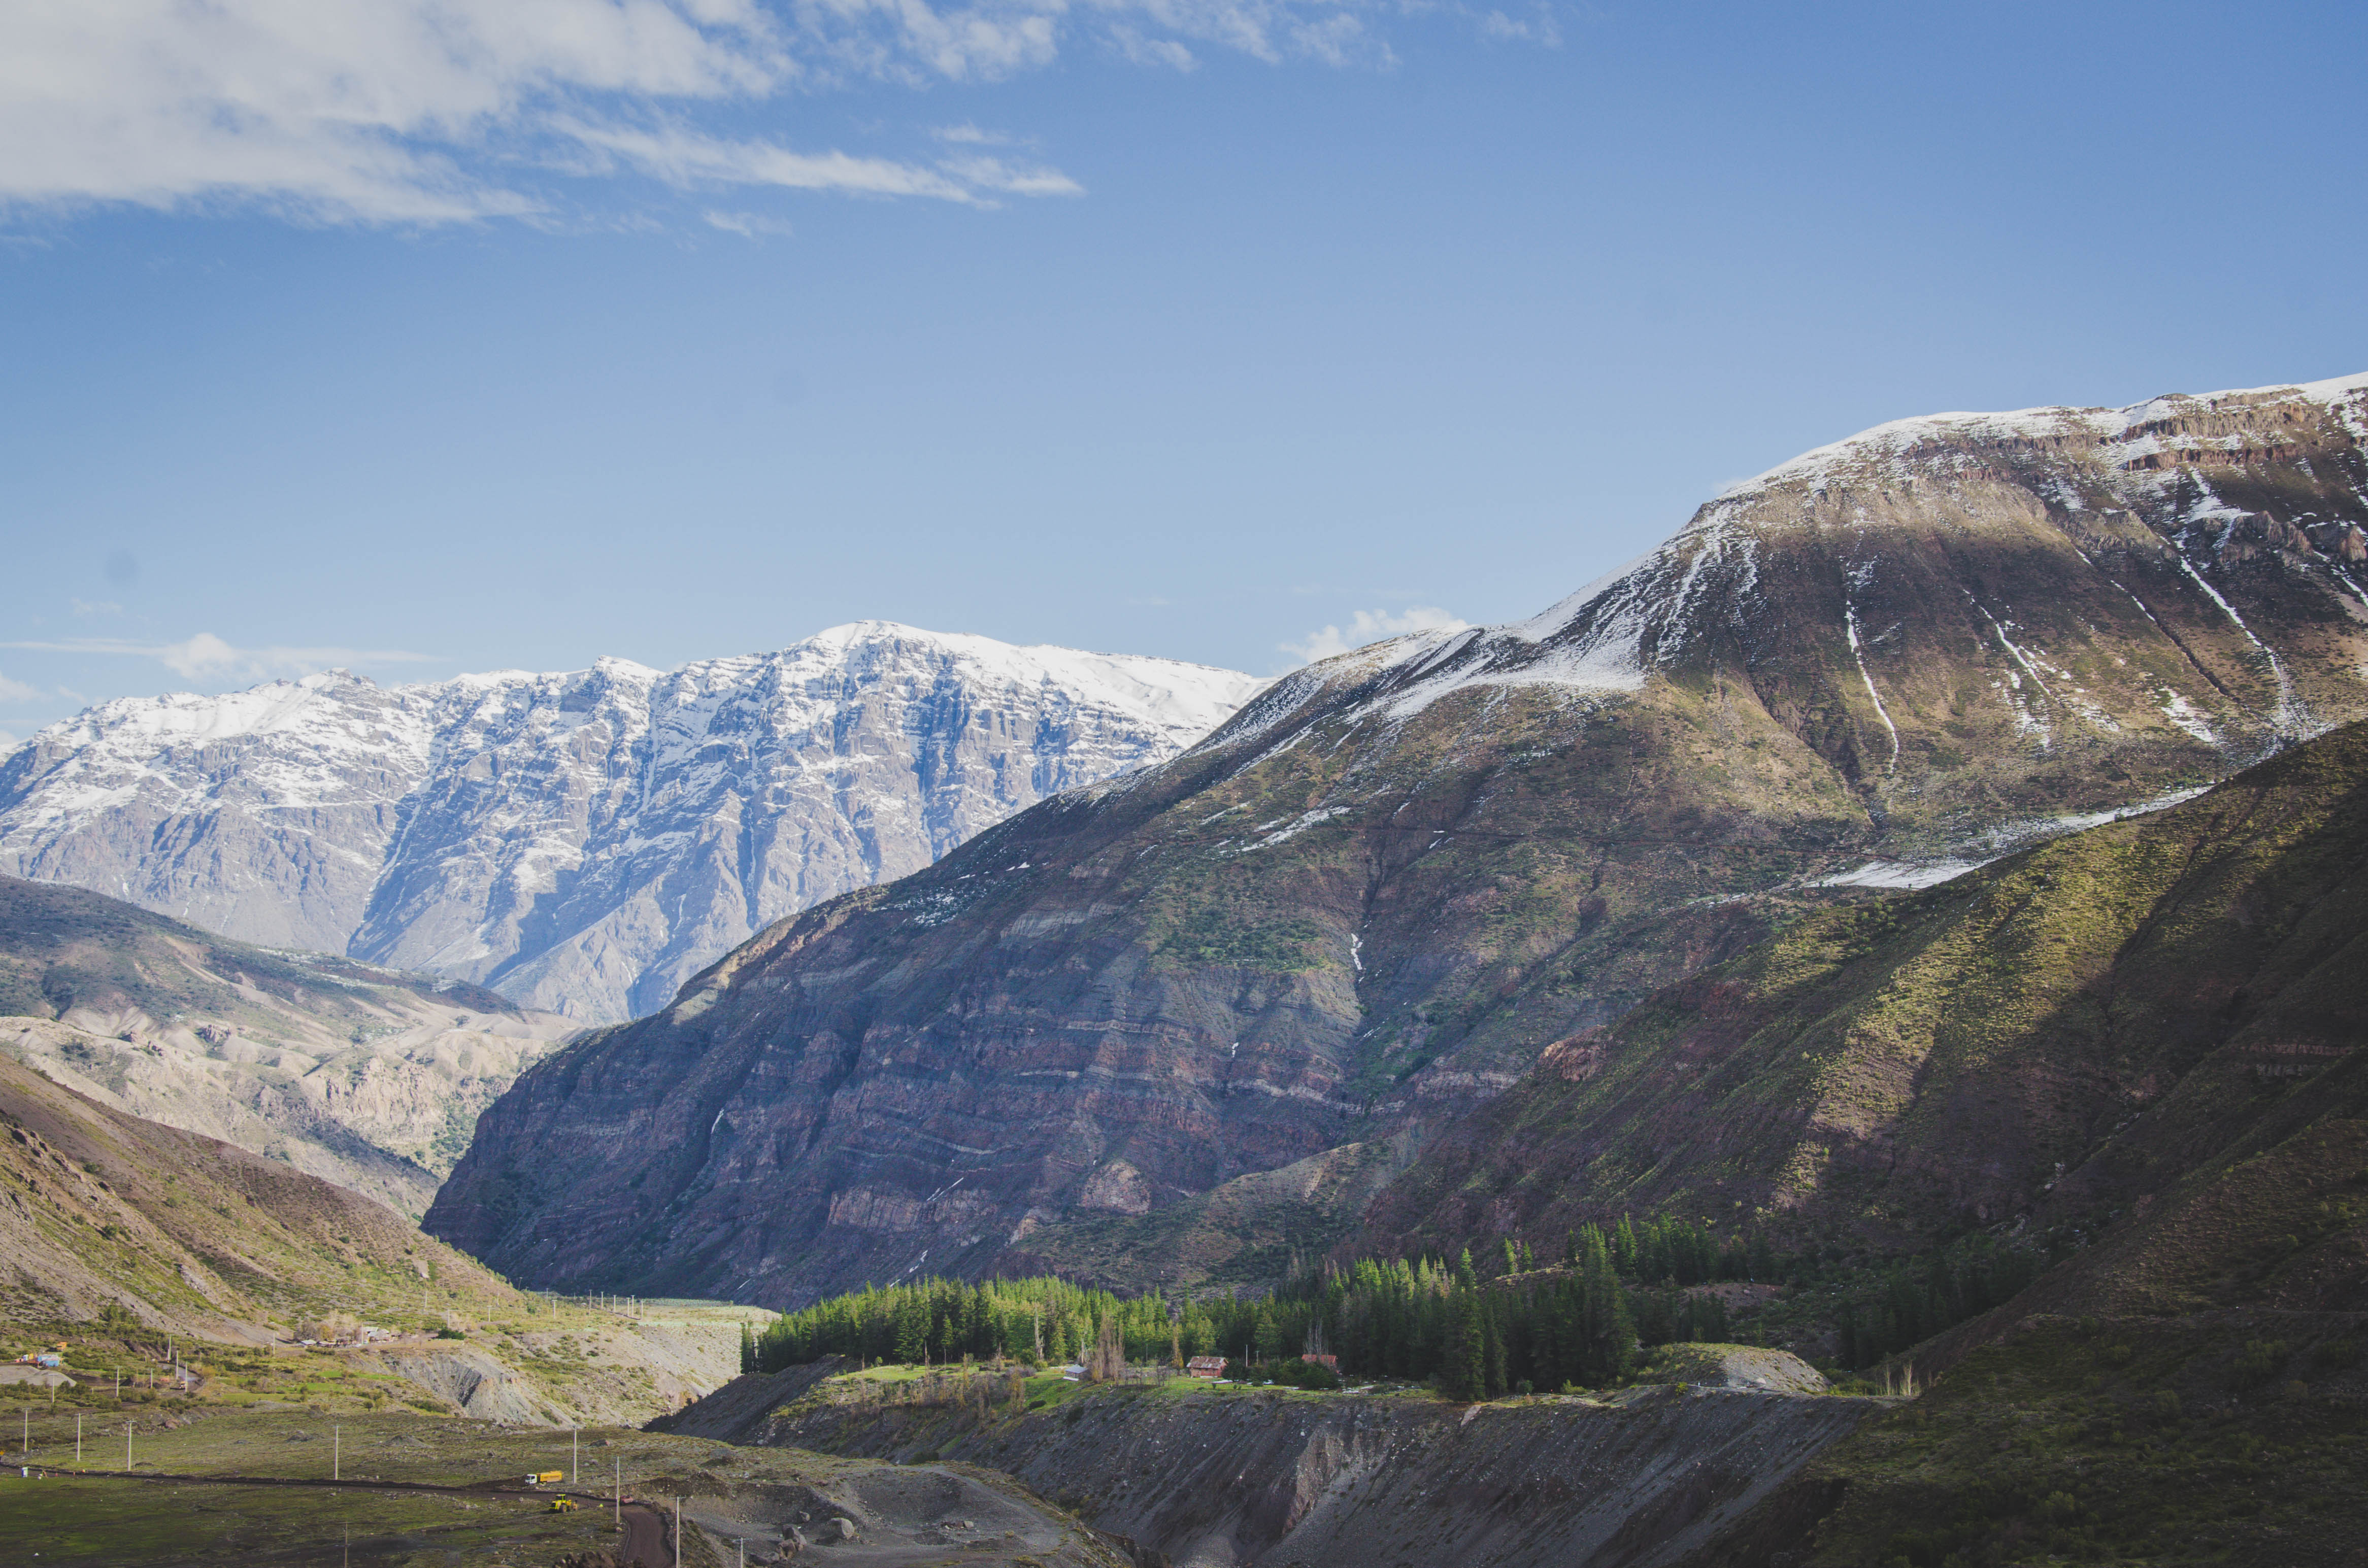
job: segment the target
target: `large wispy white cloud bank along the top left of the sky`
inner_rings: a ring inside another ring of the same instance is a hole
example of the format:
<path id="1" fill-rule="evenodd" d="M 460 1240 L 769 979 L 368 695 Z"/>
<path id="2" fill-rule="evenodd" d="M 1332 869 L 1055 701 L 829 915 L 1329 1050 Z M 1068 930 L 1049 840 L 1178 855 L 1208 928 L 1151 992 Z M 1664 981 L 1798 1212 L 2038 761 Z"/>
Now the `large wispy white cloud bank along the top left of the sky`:
<path id="1" fill-rule="evenodd" d="M 549 213 L 568 175 L 987 201 L 1051 168 L 800 152 L 696 126 L 852 78 L 997 81 L 1089 40 L 1388 64 L 1383 0 L 7 0 L 0 204 L 260 204 L 310 223 Z M 1497 36 L 1513 24 L 1489 12 Z M 952 144 L 999 144 L 976 126 Z"/>

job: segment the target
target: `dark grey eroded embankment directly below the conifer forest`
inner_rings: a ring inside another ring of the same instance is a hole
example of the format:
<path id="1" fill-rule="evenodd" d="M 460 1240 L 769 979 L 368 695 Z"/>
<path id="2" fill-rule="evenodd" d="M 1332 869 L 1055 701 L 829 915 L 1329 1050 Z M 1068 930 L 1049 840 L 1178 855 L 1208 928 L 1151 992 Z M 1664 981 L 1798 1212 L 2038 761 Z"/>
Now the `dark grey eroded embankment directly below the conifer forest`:
<path id="1" fill-rule="evenodd" d="M 1724 1544 L 1875 1407 L 1674 1386 L 1520 1405 L 1118 1388 L 985 1421 L 959 1395 L 807 1397 L 739 1440 L 983 1464 L 1177 1568 L 1643 1568 Z"/>

